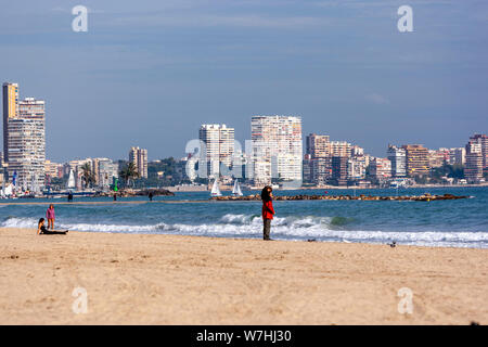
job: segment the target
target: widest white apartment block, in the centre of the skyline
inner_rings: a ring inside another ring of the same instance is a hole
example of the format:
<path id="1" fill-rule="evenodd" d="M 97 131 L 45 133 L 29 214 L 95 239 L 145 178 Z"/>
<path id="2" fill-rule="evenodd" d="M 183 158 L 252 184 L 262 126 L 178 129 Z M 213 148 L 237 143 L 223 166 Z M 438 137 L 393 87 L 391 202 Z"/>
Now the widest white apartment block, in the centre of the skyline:
<path id="1" fill-rule="evenodd" d="M 270 184 L 272 179 L 301 182 L 300 117 L 253 116 L 251 141 L 254 184 Z"/>

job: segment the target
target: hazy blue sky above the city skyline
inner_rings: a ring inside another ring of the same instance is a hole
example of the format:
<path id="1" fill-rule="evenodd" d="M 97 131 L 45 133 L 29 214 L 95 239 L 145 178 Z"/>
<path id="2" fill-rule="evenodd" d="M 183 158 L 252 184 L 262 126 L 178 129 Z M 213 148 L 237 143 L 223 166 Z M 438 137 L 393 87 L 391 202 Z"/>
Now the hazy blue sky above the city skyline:
<path id="1" fill-rule="evenodd" d="M 488 130 L 488 2 L 5 1 L 0 76 L 47 101 L 47 156 L 181 157 L 203 123 L 303 117 L 385 156 Z M 70 10 L 89 9 L 88 33 Z M 413 33 L 397 10 L 413 9 Z"/>

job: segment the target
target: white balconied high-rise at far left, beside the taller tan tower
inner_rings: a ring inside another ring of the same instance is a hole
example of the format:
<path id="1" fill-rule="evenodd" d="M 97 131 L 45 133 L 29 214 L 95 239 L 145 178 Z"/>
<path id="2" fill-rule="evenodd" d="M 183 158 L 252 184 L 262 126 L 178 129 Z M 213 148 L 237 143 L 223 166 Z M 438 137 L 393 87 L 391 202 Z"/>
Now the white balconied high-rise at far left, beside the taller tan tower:
<path id="1" fill-rule="evenodd" d="M 46 179 L 46 103 L 26 98 L 16 107 L 14 117 L 4 117 L 9 179 L 16 175 L 16 187 L 40 191 Z"/>

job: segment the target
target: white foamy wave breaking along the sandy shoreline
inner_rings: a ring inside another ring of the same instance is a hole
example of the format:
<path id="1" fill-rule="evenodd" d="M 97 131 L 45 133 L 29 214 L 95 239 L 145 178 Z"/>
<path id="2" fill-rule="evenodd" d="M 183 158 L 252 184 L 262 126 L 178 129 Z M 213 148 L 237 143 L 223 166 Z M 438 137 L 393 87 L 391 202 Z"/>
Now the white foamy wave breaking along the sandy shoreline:
<path id="1" fill-rule="evenodd" d="M 277 240 L 308 240 L 334 242 L 386 243 L 424 246 L 488 247 L 488 232 L 448 232 L 448 231 L 380 231 L 380 230 L 341 230 L 334 228 L 335 217 L 277 217 L 271 233 Z M 341 220 L 339 223 L 347 223 Z M 36 228 L 33 218 L 7 218 L 3 228 Z M 260 237 L 262 220 L 257 215 L 224 215 L 214 223 L 166 223 L 130 226 L 114 223 L 56 223 L 56 228 L 77 231 L 97 231 L 113 233 L 167 233 L 183 235 Z"/>

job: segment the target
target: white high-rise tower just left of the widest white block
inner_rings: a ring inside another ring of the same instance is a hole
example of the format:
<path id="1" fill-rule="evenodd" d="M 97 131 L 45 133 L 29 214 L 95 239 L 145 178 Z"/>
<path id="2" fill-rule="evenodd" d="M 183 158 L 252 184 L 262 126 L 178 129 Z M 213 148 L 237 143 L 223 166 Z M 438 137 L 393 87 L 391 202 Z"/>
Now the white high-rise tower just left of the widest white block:
<path id="1" fill-rule="evenodd" d="M 228 169 L 232 166 L 234 155 L 234 128 L 228 128 L 224 124 L 204 124 L 200 127 L 198 139 L 205 143 L 204 153 L 207 163 L 209 178 L 220 176 L 220 165 Z"/>

